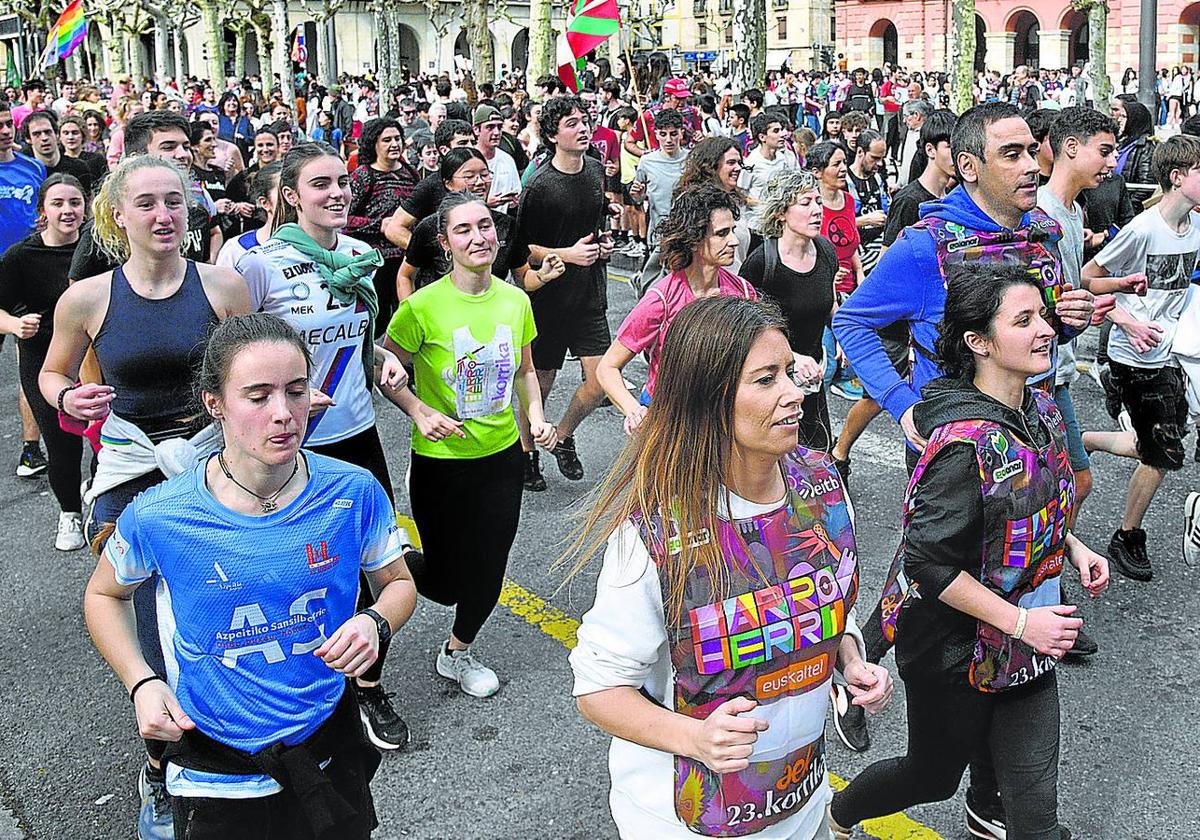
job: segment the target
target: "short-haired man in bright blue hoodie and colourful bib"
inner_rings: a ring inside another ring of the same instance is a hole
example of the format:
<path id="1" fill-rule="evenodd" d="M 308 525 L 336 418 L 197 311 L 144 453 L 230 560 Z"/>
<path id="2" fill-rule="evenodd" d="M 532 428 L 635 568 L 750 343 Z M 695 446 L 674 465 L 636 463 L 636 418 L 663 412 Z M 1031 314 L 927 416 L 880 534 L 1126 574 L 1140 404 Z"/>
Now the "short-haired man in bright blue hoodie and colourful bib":
<path id="1" fill-rule="evenodd" d="M 959 186 L 920 206 L 922 222 L 896 239 L 833 318 L 863 385 L 900 422 L 912 448 L 910 464 L 925 445 L 912 407 L 922 386 L 942 374 L 932 349 L 946 304 L 946 266 L 971 259 L 1037 263 L 1048 299 L 1057 299 L 1063 340 L 1091 320 L 1091 293 L 1062 286 L 1057 223 L 1034 210 L 1037 152 L 1037 140 L 1013 106 L 989 102 L 964 113 L 950 138 Z M 877 334 L 898 322 L 910 325 L 917 350 L 911 383 L 896 373 Z"/>

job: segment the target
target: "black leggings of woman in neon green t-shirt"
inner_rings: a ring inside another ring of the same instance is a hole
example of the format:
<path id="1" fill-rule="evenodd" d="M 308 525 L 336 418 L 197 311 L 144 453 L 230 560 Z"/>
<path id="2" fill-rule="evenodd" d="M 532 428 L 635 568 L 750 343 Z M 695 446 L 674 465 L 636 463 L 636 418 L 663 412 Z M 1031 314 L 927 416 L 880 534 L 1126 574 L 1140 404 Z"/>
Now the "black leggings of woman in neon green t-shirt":
<path id="1" fill-rule="evenodd" d="M 454 635 L 470 644 L 492 614 L 521 521 L 521 444 L 481 458 L 413 452 L 409 497 L 424 562 L 409 564 L 416 590 L 457 606 Z"/>

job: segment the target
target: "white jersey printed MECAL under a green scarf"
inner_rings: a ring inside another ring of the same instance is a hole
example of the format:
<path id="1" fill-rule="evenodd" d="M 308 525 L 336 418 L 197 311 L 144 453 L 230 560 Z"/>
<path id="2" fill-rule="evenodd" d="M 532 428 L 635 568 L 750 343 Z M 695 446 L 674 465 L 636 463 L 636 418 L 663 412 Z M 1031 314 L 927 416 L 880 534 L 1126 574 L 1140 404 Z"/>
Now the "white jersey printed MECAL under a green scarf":
<path id="1" fill-rule="evenodd" d="M 336 250 L 356 256 L 371 246 L 340 235 Z M 337 403 L 308 419 L 305 445 L 337 443 L 373 426 L 374 406 L 362 370 L 362 342 L 371 341 L 367 307 L 338 302 L 316 264 L 277 239 L 247 251 L 236 269 L 250 287 L 251 308 L 278 316 L 307 342 L 308 382 Z"/>

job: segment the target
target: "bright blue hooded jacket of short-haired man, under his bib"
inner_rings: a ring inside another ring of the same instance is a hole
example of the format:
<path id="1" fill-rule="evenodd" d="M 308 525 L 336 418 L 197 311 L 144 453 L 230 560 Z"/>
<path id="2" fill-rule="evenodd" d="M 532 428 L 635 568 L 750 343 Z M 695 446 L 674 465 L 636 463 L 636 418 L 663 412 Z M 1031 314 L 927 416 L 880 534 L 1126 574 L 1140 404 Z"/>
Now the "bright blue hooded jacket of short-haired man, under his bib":
<path id="1" fill-rule="evenodd" d="M 946 198 L 922 204 L 920 217 L 930 216 L 955 222 L 967 230 L 998 233 L 1007 229 L 980 210 L 961 186 Z M 1020 227 L 1028 222 L 1026 214 Z M 896 420 L 910 406 L 920 402 L 920 389 L 926 382 L 942 376 L 930 356 L 944 306 L 946 282 L 937 265 L 932 235 L 924 228 L 905 228 L 833 317 L 834 335 L 858 378 Z M 898 322 L 907 322 L 917 344 L 911 383 L 895 372 L 877 334 Z"/>

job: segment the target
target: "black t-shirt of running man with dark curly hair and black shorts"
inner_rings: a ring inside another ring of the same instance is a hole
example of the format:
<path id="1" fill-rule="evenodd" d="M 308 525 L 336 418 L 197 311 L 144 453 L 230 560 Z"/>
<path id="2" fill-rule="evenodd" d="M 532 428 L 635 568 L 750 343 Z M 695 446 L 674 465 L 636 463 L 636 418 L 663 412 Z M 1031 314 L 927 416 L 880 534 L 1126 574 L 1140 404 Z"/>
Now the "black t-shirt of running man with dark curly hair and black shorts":
<path id="1" fill-rule="evenodd" d="M 604 164 L 583 157 L 583 168 L 568 174 L 553 161 L 539 167 L 521 192 L 517 238 L 522 247 L 565 248 L 588 234 L 600 235 L 606 218 Z M 608 308 L 607 263 L 566 265 L 553 283 L 529 295 L 534 314 L 554 311 L 604 312 Z M 553 316 L 551 316 L 553 317 Z"/>

